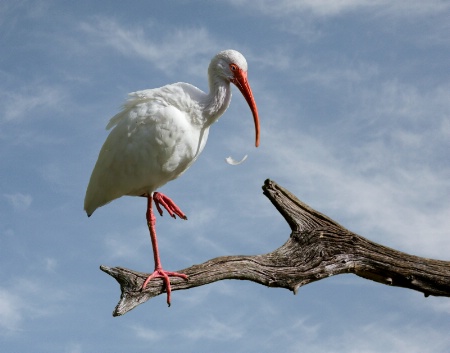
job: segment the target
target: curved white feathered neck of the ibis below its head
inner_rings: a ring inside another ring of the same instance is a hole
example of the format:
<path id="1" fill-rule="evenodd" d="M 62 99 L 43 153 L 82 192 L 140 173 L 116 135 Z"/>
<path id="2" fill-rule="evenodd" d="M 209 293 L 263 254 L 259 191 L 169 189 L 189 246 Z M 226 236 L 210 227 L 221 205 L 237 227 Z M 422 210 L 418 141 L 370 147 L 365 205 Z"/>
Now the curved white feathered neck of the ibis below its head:
<path id="1" fill-rule="evenodd" d="M 209 93 L 205 97 L 203 117 L 211 125 L 227 110 L 231 101 L 230 82 L 220 77 L 209 78 Z"/>

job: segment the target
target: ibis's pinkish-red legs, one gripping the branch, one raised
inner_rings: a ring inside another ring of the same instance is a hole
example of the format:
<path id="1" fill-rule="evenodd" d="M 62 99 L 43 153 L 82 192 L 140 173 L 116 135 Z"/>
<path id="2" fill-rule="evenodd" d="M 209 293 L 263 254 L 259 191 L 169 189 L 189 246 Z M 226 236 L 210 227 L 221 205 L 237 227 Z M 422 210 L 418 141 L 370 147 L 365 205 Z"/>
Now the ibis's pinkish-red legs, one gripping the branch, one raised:
<path id="1" fill-rule="evenodd" d="M 174 277 L 181 277 L 183 279 L 187 280 L 187 276 L 182 273 L 178 272 L 169 272 L 165 271 L 162 268 L 161 260 L 159 258 L 159 250 L 158 250 L 158 240 L 156 239 L 156 230 L 155 230 L 155 224 L 156 224 L 156 218 L 153 214 L 153 208 L 152 208 L 152 201 L 153 198 L 155 200 L 155 205 L 158 208 L 158 212 L 162 215 L 162 210 L 159 206 L 159 204 L 163 205 L 163 207 L 169 212 L 169 214 L 175 218 L 175 214 L 178 215 L 178 217 L 187 219 L 183 212 L 175 205 L 175 203 L 169 199 L 167 196 L 161 194 L 161 193 L 154 193 L 154 196 L 147 196 L 147 224 L 148 229 L 150 231 L 150 239 L 152 241 L 152 247 L 153 247 L 153 257 L 155 259 L 155 271 L 147 277 L 144 284 L 142 285 L 142 290 L 147 287 L 148 282 L 152 280 L 153 278 L 162 278 L 164 285 L 166 286 L 166 292 L 167 292 L 167 304 L 170 306 L 170 279 L 169 276 Z"/>

